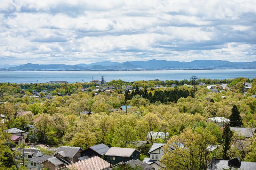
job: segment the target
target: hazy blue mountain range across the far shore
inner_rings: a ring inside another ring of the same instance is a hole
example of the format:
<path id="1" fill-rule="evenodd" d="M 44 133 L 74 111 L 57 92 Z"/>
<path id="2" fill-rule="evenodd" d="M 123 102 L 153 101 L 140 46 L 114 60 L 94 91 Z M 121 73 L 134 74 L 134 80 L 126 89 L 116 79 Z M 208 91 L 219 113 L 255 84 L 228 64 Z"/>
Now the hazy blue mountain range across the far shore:
<path id="1" fill-rule="evenodd" d="M 1 66 L 1 65 L 0 65 Z M 72 70 L 192 70 L 192 69 L 256 69 L 256 61 L 230 62 L 223 60 L 194 60 L 191 62 L 149 60 L 130 62 L 101 61 L 92 64 L 24 64 L 0 67 L 0 71 L 72 71 Z"/>

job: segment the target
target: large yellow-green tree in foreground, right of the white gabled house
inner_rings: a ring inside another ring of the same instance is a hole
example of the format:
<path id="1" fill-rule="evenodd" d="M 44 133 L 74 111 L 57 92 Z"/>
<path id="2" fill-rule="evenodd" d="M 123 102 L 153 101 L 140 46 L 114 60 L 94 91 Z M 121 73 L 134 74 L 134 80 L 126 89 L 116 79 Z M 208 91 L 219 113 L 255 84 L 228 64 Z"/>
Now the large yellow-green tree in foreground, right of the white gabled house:
<path id="1" fill-rule="evenodd" d="M 167 170 L 206 170 L 212 159 L 212 154 L 207 151 L 210 144 L 216 144 L 216 137 L 208 128 L 185 128 L 180 136 L 172 136 L 164 145 L 164 155 L 160 163 L 166 166 Z"/>

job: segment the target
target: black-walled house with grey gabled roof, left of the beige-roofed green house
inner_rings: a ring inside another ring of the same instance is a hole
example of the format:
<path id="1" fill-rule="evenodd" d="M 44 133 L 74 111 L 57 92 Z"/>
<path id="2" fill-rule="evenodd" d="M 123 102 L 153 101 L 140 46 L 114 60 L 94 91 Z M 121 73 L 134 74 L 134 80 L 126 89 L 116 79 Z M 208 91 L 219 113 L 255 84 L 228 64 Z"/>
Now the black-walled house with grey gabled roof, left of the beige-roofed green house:
<path id="1" fill-rule="evenodd" d="M 103 143 L 100 143 L 98 145 L 94 145 L 91 146 L 89 148 L 86 148 L 85 150 L 80 152 L 80 156 L 89 156 L 89 157 L 94 157 L 94 156 L 98 156 L 98 157 L 102 157 L 102 155 L 104 155 L 107 151 L 109 150 L 109 147 L 106 146 Z"/>

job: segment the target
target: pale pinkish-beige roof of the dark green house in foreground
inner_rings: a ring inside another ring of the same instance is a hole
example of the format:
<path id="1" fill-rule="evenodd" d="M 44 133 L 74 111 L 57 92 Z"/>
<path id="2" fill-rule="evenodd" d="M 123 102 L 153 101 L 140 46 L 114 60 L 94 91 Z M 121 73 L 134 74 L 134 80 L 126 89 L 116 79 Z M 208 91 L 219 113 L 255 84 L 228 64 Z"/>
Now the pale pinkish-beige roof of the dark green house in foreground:
<path id="1" fill-rule="evenodd" d="M 109 148 L 105 156 L 130 157 L 134 151 L 138 151 L 138 150 L 133 148 L 111 147 Z"/>

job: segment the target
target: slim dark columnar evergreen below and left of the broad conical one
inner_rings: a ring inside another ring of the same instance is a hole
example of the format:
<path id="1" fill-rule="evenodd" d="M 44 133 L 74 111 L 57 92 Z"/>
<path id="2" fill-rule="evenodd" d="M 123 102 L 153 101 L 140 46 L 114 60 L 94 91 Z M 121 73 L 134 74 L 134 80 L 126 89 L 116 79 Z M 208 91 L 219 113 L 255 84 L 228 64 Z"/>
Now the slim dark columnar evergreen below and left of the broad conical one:
<path id="1" fill-rule="evenodd" d="M 225 127 L 223 128 L 223 134 L 222 134 L 222 138 L 223 138 L 223 159 L 228 160 L 228 155 L 227 155 L 227 151 L 230 149 L 230 142 L 231 142 L 231 138 L 232 138 L 232 131 L 230 130 L 230 127 L 228 126 L 228 124 L 225 125 Z"/>

